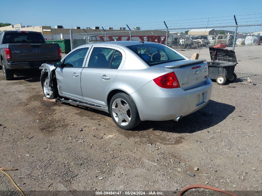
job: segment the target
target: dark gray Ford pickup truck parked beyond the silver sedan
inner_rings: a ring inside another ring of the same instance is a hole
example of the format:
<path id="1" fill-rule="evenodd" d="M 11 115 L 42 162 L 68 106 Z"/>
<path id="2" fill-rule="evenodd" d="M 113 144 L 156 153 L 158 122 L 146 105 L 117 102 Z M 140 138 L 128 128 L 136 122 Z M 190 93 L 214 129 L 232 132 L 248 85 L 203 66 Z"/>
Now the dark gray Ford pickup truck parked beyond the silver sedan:
<path id="1" fill-rule="evenodd" d="M 14 77 L 15 70 L 38 69 L 42 63 L 61 60 L 58 44 L 46 43 L 39 32 L 4 31 L 0 33 L 0 69 L 5 80 Z"/>

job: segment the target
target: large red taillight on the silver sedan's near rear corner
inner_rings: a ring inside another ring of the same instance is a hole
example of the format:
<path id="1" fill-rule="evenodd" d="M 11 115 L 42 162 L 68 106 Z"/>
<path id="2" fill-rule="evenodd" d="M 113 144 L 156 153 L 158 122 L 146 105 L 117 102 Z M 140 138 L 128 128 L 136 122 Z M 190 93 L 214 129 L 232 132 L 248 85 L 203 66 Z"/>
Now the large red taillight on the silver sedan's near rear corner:
<path id="1" fill-rule="evenodd" d="M 153 81 L 160 86 L 161 88 L 164 89 L 174 89 L 174 88 L 179 88 L 179 82 L 177 80 L 177 77 L 175 76 L 174 72 L 167 73 L 165 75 L 159 76 Z"/>

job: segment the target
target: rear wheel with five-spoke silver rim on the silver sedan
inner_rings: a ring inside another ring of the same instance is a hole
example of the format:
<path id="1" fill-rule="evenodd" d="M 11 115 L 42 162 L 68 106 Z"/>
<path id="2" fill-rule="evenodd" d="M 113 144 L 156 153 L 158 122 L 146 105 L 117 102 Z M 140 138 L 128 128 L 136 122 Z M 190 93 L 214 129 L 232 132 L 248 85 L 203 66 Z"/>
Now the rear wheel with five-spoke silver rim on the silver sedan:
<path id="1" fill-rule="evenodd" d="M 141 122 L 134 100 L 125 93 L 115 94 L 109 108 L 114 123 L 122 129 L 130 130 Z"/>

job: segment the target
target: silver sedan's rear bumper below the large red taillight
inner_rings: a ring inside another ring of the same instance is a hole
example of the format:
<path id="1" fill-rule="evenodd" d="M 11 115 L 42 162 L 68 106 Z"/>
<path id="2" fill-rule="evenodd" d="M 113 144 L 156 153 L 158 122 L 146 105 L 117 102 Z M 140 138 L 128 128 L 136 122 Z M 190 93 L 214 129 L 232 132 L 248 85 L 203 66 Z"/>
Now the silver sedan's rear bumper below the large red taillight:
<path id="1" fill-rule="evenodd" d="M 204 93 L 204 100 L 198 103 L 198 96 L 201 93 Z M 163 89 L 150 81 L 132 93 L 131 97 L 136 103 L 142 121 L 172 120 L 204 107 L 210 100 L 211 93 L 212 81 L 208 78 L 204 84 L 189 90 Z"/>

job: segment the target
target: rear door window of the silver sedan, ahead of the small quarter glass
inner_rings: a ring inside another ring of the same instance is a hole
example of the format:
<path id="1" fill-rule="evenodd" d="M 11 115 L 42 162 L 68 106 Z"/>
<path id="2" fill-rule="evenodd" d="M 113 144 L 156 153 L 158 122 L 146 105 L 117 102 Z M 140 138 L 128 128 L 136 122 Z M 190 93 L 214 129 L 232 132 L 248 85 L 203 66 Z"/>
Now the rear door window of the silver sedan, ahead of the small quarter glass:
<path id="1" fill-rule="evenodd" d="M 114 56 L 114 49 L 94 48 L 90 56 L 87 68 L 108 69 Z"/>

